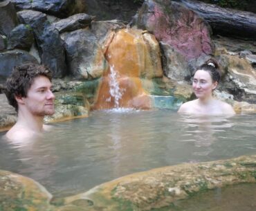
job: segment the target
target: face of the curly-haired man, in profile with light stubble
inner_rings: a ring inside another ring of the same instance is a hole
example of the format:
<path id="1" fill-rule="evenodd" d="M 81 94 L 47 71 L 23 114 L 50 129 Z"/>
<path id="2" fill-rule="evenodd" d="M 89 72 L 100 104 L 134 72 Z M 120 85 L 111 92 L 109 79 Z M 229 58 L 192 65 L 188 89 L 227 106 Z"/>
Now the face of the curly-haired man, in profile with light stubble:
<path id="1" fill-rule="evenodd" d="M 37 76 L 28 89 L 24 104 L 34 116 L 53 115 L 55 95 L 51 91 L 51 81 L 48 77 Z"/>

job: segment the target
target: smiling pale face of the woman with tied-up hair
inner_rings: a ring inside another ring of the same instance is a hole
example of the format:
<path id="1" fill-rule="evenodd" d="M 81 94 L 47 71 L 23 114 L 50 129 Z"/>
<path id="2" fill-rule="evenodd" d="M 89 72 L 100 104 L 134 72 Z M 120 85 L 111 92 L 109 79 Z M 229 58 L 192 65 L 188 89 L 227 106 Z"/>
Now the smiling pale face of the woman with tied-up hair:
<path id="1" fill-rule="evenodd" d="M 212 91 L 217 87 L 218 82 L 212 82 L 212 77 L 208 71 L 198 70 L 194 74 L 192 88 L 196 98 L 208 98 L 212 96 Z"/>

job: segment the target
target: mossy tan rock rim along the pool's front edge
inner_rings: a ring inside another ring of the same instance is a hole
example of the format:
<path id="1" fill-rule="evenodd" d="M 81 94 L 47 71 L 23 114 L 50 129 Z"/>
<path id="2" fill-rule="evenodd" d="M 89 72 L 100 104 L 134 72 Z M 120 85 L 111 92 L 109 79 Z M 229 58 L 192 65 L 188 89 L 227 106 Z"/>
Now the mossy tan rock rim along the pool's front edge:
<path id="1" fill-rule="evenodd" d="M 0 171 L 0 208 L 12 210 L 161 210 L 216 187 L 256 183 L 256 156 L 184 163 L 117 178 L 55 199 L 30 178 Z M 232 187 L 232 186 L 231 186 Z"/>

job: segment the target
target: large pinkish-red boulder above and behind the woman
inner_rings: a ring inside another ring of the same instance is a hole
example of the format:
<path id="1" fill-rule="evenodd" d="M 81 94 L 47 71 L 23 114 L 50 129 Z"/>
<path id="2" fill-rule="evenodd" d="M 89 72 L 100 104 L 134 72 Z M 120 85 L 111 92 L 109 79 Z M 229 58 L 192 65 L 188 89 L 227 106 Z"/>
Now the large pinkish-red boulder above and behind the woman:
<path id="1" fill-rule="evenodd" d="M 149 0 L 138 12 L 136 26 L 149 30 L 186 59 L 214 52 L 210 26 L 195 12 L 174 1 Z"/>

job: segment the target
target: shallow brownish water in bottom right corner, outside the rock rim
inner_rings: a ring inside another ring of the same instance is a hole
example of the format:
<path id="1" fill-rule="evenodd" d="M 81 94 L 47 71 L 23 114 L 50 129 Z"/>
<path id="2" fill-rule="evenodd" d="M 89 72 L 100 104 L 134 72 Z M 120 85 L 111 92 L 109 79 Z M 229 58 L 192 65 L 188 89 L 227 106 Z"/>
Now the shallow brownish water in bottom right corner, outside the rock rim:
<path id="1" fill-rule="evenodd" d="M 199 192 L 174 203 L 168 211 L 255 211 L 256 184 L 240 184 Z"/>

